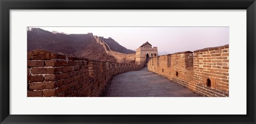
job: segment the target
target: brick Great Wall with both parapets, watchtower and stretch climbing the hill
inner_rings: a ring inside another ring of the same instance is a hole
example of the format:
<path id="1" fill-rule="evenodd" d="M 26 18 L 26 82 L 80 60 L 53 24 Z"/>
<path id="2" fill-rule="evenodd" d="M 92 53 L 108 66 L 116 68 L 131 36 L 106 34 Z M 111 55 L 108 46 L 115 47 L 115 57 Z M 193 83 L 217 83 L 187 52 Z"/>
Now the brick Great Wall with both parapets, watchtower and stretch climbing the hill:
<path id="1" fill-rule="evenodd" d="M 88 34 L 117 61 L 139 59 L 140 63 L 131 65 L 45 50 L 29 51 L 27 96 L 104 96 L 111 77 L 142 69 L 146 57 L 150 58 L 147 63 L 150 72 L 203 96 L 229 96 L 229 45 L 158 56 L 157 47 L 151 48 L 146 42 L 136 54 L 122 54 L 111 50 L 103 37 Z"/>

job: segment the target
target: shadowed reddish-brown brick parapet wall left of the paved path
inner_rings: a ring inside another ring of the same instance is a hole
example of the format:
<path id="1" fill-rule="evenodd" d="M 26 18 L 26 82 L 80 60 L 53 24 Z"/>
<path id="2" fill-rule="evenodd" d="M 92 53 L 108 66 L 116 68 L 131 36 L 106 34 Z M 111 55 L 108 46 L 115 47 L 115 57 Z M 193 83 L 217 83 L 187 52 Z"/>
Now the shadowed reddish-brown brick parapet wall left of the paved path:
<path id="1" fill-rule="evenodd" d="M 112 76 L 140 65 L 95 61 L 45 50 L 27 53 L 27 96 L 102 96 Z"/>

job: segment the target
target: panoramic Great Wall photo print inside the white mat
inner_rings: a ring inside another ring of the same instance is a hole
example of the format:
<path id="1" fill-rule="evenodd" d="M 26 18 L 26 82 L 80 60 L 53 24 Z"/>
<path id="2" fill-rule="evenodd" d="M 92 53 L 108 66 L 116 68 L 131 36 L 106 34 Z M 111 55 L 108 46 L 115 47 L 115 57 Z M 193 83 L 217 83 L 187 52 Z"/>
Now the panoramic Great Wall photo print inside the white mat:
<path id="1" fill-rule="evenodd" d="M 27 27 L 27 97 L 228 97 L 229 27 Z"/>

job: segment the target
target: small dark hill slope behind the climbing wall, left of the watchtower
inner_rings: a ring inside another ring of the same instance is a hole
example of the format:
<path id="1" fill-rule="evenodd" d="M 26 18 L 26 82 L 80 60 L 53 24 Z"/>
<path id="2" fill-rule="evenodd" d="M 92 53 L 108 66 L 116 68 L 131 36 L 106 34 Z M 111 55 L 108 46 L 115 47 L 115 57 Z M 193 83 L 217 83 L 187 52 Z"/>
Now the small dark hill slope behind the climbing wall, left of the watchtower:
<path id="1" fill-rule="evenodd" d="M 119 45 L 119 43 L 116 42 L 112 38 L 108 38 L 108 39 L 104 38 L 103 41 L 108 43 L 108 46 L 113 51 L 121 52 L 121 53 L 124 53 L 124 54 L 135 54 L 135 51 L 130 50 L 130 49 L 126 49 L 125 47 Z"/>

